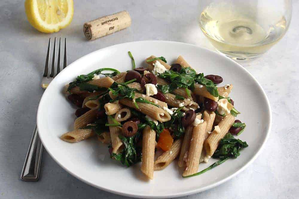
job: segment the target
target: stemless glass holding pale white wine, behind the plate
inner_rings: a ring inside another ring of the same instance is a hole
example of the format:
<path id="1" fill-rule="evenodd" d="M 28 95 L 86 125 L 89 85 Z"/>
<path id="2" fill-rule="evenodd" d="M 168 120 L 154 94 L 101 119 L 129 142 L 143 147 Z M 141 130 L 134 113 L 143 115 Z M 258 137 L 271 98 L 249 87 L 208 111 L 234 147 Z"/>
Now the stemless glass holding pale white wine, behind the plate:
<path id="1" fill-rule="evenodd" d="M 286 33 L 292 16 L 291 0 L 210 1 L 199 26 L 219 52 L 235 60 L 254 59 Z"/>

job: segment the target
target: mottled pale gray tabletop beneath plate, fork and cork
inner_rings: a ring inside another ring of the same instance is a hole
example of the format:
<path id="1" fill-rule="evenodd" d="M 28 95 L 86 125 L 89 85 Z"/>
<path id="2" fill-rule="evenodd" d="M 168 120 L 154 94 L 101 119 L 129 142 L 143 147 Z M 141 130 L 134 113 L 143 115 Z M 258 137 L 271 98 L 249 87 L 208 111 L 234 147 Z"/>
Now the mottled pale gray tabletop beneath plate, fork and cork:
<path id="1" fill-rule="evenodd" d="M 75 1 L 71 25 L 58 33 L 30 26 L 24 2 L 0 2 L 0 198 L 126 198 L 91 187 L 65 172 L 44 151 L 39 182 L 19 175 L 43 90 L 39 83 L 49 37 L 68 38 L 68 63 L 113 44 L 170 40 L 213 49 L 199 30 L 198 1 Z M 132 26 L 87 41 L 82 26 L 99 16 L 128 10 Z M 272 132 L 261 155 L 230 181 L 182 198 L 299 198 L 298 52 L 299 1 L 293 1 L 289 31 L 263 57 L 243 64 L 266 91 Z M 249 132 L 248 132 L 249 133 Z"/>

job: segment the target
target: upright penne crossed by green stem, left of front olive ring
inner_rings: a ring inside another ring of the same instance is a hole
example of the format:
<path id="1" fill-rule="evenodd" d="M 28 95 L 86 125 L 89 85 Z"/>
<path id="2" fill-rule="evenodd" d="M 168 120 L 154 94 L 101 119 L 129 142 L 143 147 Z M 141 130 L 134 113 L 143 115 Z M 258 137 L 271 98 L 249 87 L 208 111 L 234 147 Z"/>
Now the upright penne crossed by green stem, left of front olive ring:
<path id="1" fill-rule="evenodd" d="M 114 122 L 111 120 L 110 117 L 108 117 L 108 123 L 114 124 Z M 112 143 L 112 153 L 118 154 L 123 149 L 123 142 L 118 137 L 121 133 L 121 128 L 110 126 L 109 130 L 110 130 L 110 137 Z"/>

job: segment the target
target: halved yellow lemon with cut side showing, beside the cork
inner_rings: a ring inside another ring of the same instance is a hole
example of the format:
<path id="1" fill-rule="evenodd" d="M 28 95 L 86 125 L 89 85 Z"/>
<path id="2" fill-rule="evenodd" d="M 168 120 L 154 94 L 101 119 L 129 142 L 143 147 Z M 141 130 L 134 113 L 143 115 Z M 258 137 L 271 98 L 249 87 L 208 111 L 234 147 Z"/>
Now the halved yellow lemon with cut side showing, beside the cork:
<path id="1" fill-rule="evenodd" d="M 73 0 L 26 0 L 25 12 L 29 23 L 43 33 L 54 33 L 71 23 Z"/>

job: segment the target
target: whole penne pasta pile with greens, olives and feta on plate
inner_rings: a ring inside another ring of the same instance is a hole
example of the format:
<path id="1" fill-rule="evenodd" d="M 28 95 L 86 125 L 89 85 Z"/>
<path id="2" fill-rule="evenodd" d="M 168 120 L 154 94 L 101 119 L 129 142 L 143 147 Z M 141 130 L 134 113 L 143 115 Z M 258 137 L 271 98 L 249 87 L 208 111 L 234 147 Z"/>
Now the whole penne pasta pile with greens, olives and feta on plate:
<path id="1" fill-rule="evenodd" d="M 63 141 L 96 136 L 115 161 L 128 167 L 141 161 L 149 179 L 176 158 L 183 177 L 200 175 L 248 146 L 233 136 L 246 125 L 235 119 L 240 112 L 229 97 L 232 84 L 217 87 L 221 76 L 197 73 L 182 56 L 168 65 L 152 55 L 147 67 L 136 67 L 128 53 L 132 70 L 101 68 L 66 85 L 68 99 L 79 109 L 74 130 L 64 133 Z M 163 153 L 155 158 L 157 151 Z M 210 158 L 219 160 L 198 172 Z"/>

